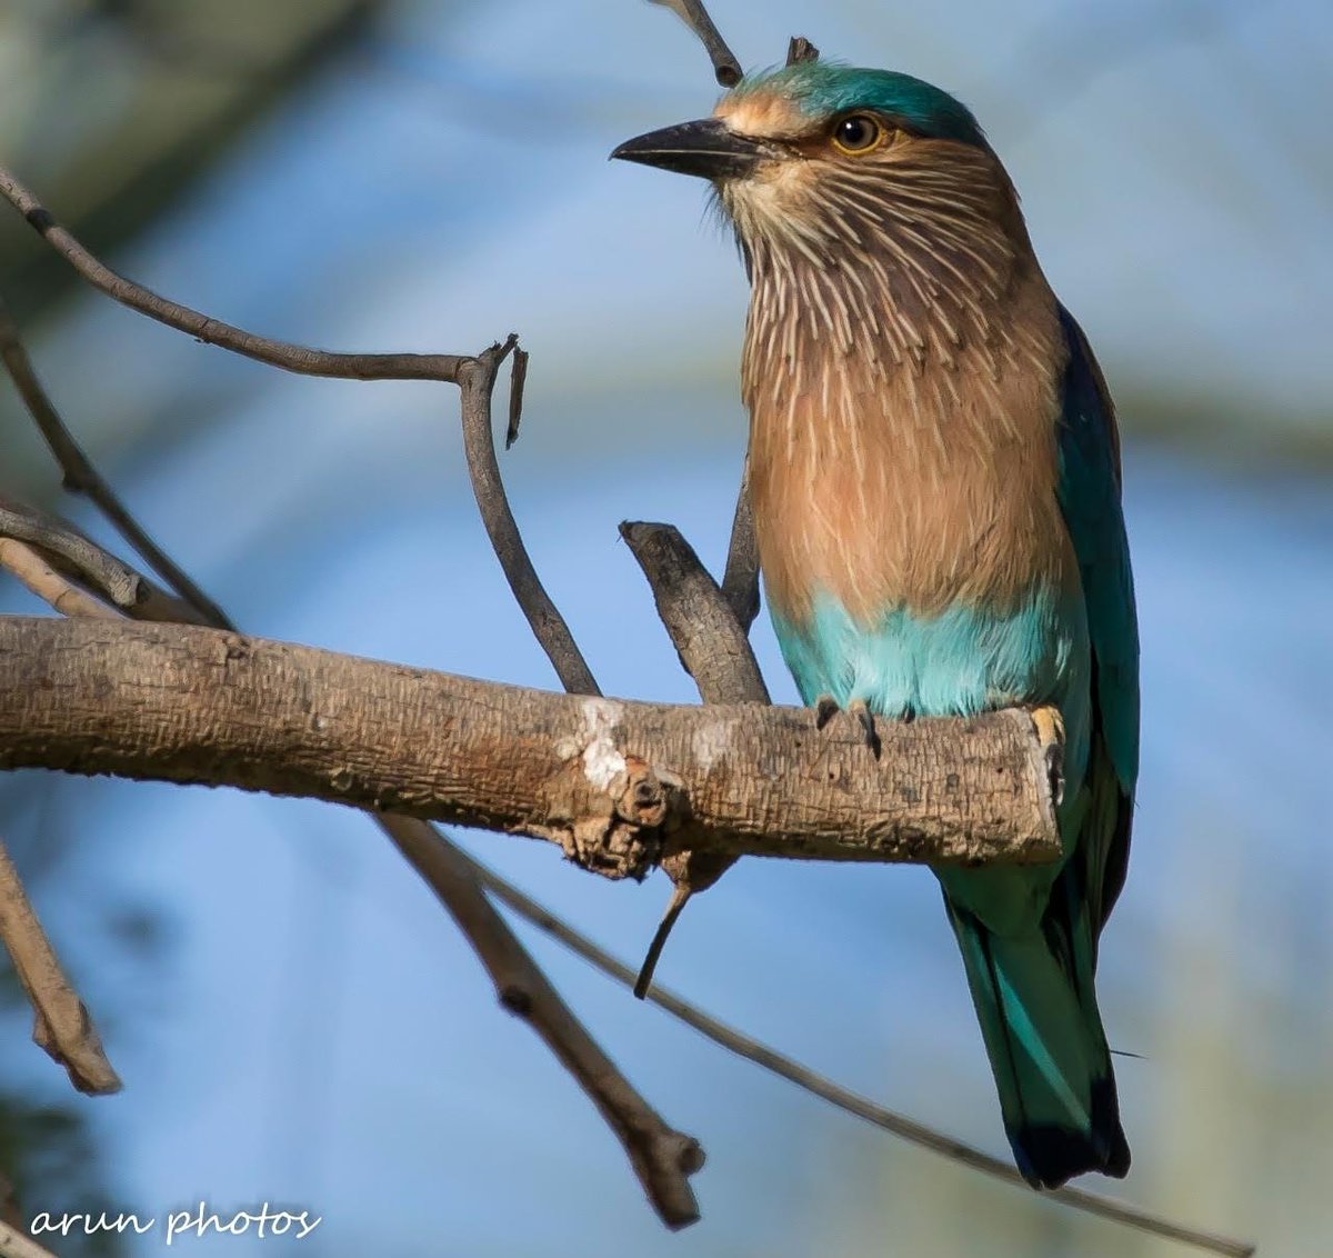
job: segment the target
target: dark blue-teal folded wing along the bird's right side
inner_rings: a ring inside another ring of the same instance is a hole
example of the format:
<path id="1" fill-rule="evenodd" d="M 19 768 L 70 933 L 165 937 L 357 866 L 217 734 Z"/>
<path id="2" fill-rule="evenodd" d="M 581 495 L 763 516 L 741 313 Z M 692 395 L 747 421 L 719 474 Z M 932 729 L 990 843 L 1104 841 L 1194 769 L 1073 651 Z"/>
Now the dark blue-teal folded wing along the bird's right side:
<path id="1" fill-rule="evenodd" d="M 1086 903 L 1101 931 L 1125 880 L 1138 775 L 1138 624 L 1120 506 L 1116 414 L 1088 339 L 1068 311 L 1060 507 L 1078 556 L 1092 642 L 1089 804 L 1080 836 Z"/>

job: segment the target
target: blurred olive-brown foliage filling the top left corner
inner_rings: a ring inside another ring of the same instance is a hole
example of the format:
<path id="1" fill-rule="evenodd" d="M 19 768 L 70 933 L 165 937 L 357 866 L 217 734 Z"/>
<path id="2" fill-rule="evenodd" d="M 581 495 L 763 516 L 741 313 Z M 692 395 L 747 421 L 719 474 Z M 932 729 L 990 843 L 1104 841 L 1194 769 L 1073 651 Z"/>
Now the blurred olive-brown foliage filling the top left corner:
<path id="1" fill-rule="evenodd" d="M 93 252 L 169 212 L 248 129 L 372 29 L 384 0 L 49 0 L 0 15 L 0 151 Z M 225 20 L 223 20 L 225 19 Z M 77 84 L 79 91 L 68 91 Z M 88 111 L 84 100 L 100 100 Z M 71 276 L 0 223 L 4 288 L 43 312 Z"/>

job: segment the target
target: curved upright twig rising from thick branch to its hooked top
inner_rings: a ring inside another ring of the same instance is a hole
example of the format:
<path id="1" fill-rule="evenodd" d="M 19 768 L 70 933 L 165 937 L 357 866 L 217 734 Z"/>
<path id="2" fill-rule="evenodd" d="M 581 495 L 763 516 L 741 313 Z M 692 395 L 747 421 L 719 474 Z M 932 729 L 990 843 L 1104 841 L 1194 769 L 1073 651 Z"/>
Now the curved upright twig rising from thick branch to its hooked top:
<path id="1" fill-rule="evenodd" d="M 532 566 L 528 548 L 515 522 L 509 499 L 500 478 L 500 463 L 496 459 L 496 439 L 491 416 L 491 396 L 495 392 L 496 375 L 505 356 L 517 348 L 517 338 L 511 336 L 501 346 L 492 346 L 477 355 L 459 374 L 459 388 L 463 394 L 463 446 L 468 458 L 468 472 L 472 478 L 472 491 L 477 498 L 481 520 L 487 536 L 495 548 L 500 567 L 513 596 L 519 600 L 528 624 L 541 648 L 547 652 L 560 678 L 560 684 L 571 694 L 600 695 L 588 662 L 565 618 L 547 594 L 545 586 Z M 512 408 L 509 431 L 519 431 L 519 414 Z"/>

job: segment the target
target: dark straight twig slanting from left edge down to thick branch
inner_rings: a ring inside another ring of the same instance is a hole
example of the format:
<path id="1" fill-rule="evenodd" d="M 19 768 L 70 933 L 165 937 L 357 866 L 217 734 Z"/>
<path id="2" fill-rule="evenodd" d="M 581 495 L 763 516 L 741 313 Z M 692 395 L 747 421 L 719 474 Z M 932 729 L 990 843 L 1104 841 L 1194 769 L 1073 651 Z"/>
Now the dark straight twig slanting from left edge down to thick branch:
<path id="1" fill-rule="evenodd" d="M 140 527 L 139 522 L 125 510 L 116 491 L 99 475 L 83 448 L 73 439 L 47 395 L 33 370 L 28 351 L 19 336 L 19 327 L 0 296 L 0 362 L 4 363 L 13 380 L 19 396 L 28 414 L 45 438 L 47 446 L 60 464 L 64 486 L 75 494 L 85 495 L 112 527 L 143 556 L 144 562 L 181 599 L 200 611 L 205 611 L 211 623 L 224 623 L 227 618 L 221 608 L 195 584 L 185 571 Z M 231 624 L 225 624 L 231 628 Z"/>

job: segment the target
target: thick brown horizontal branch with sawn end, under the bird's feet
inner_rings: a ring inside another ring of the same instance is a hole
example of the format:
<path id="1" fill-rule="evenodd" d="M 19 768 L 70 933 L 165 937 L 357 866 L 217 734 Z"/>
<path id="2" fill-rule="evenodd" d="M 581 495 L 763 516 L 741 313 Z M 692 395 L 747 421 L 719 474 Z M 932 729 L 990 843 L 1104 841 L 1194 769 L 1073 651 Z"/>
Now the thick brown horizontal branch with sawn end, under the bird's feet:
<path id="1" fill-rule="evenodd" d="M 1037 860 L 1060 847 L 1026 714 L 884 723 L 476 682 L 187 626 L 0 619 L 0 767 L 236 786 L 661 855 Z"/>

